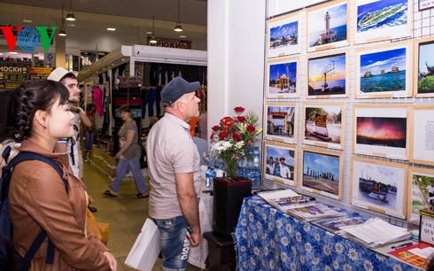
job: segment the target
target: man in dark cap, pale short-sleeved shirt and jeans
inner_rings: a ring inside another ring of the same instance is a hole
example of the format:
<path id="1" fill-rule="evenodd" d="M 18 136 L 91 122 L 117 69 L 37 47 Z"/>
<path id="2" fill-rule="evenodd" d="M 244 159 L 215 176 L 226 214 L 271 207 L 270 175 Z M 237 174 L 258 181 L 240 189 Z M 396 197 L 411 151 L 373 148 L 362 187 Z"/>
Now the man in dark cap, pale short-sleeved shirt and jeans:
<path id="1" fill-rule="evenodd" d="M 151 178 L 149 214 L 159 227 L 164 270 L 184 270 L 190 245 L 202 242 L 199 224 L 200 158 L 190 136 L 199 82 L 175 77 L 161 91 L 166 113 L 146 140 Z"/>

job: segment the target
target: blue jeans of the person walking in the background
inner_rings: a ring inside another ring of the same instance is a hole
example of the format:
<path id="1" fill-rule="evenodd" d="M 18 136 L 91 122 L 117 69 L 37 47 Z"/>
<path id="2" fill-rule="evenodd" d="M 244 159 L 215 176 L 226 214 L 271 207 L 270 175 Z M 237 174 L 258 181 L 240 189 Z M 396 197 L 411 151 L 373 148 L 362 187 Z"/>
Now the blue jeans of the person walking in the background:
<path id="1" fill-rule="evenodd" d="M 128 172 L 128 166 L 133 172 L 134 182 L 136 182 L 136 188 L 139 193 L 145 193 L 148 191 L 146 184 L 144 184 L 144 178 L 142 174 L 142 170 L 140 169 L 140 161 L 138 157 L 134 157 L 132 159 L 119 159 L 118 162 L 118 174 L 116 175 L 116 179 L 109 185 L 109 187 L 117 192 L 120 187 L 120 182 L 124 178 L 125 174 Z"/>

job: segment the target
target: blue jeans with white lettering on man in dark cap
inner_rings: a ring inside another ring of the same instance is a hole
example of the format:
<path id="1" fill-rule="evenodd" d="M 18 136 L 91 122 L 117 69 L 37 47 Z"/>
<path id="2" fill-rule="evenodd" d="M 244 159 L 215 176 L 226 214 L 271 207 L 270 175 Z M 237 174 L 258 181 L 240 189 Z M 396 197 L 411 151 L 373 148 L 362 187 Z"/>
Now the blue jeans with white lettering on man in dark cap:
<path id="1" fill-rule="evenodd" d="M 163 268 L 166 271 L 185 270 L 188 265 L 190 240 L 187 236 L 189 225 L 183 216 L 167 220 L 156 220 L 161 236 Z"/>

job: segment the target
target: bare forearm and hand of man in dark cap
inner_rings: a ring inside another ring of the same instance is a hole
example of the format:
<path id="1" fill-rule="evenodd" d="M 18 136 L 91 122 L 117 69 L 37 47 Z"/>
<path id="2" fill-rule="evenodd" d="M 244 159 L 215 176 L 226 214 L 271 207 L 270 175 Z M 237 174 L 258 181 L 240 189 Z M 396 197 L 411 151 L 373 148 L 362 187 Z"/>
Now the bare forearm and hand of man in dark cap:
<path id="1" fill-rule="evenodd" d="M 199 222 L 198 195 L 194 189 L 193 173 L 174 174 L 176 192 L 182 214 L 191 228 L 190 244 L 198 246 L 202 242 Z"/>

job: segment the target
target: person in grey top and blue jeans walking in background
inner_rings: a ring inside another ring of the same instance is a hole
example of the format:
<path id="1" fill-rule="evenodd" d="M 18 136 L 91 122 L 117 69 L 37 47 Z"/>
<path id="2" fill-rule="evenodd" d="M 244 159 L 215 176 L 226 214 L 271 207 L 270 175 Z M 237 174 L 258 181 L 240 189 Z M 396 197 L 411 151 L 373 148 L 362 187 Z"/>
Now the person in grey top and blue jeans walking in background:
<path id="1" fill-rule="evenodd" d="M 122 105 L 119 109 L 120 119 L 124 121 L 118 135 L 120 141 L 120 150 L 114 156 L 119 159 L 118 174 L 109 185 L 110 190 L 105 190 L 104 195 L 116 197 L 118 195 L 120 182 L 128 172 L 128 167 L 131 169 L 136 182 L 138 194 L 136 198 L 148 197 L 148 188 L 144 182 L 142 170 L 140 169 L 140 155 L 142 148 L 138 144 L 138 129 L 136 121 L 131 118 L 131 111 L 128 105 Z"/>

